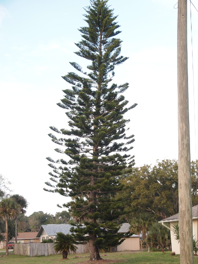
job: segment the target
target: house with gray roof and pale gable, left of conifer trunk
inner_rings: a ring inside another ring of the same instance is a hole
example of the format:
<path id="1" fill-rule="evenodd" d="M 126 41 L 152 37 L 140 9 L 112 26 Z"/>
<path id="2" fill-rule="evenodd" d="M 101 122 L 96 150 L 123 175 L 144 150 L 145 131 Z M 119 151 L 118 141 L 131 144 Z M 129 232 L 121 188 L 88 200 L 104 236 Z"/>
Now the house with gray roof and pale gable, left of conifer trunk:
<path id="1" fill-rule="evenodd" d="M 42 242 L 45 239 L 54 239 L 58 232 L 63 234 L 71 234 L 71 224 L 43 224 L 37 233 L 37 238 Z"/>

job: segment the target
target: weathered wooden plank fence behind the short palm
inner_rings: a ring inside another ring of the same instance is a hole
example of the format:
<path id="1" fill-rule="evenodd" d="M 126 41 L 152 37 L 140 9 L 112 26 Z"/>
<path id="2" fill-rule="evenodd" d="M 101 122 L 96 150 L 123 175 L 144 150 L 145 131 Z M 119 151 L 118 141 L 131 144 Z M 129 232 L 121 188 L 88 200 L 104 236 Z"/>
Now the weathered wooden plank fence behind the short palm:
<path id="1" fill-rule="evenodd" d="M 77 245 L 76 254 L 89 253 L 88 244 Z M 15 255 L 29 257 L 55 255 L 53 243 L 19 243 L 14 245 Z"/>

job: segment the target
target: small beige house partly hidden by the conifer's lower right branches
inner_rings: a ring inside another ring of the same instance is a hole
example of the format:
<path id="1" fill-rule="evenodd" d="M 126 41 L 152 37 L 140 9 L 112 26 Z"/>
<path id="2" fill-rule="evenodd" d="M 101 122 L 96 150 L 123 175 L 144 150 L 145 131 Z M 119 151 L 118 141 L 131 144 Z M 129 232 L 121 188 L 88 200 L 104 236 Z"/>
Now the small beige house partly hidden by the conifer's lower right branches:
<path id="1" fill-rule="evenodd" d="M 127 233 L 129 232 L 130 228 L 129 223 L 123 223 L 118 230 L 118 233 Z M 140 250 L 140 236 L 139 235 L 132 235 L 126 238 L 122 244 L 117 246 L 117 251 L 136 251 Z"/>

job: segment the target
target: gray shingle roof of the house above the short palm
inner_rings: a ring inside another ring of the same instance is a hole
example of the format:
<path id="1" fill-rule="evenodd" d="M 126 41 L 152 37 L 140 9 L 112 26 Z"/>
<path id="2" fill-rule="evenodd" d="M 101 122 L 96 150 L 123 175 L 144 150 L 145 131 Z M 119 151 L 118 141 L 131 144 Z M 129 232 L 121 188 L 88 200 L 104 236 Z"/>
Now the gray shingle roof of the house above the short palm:
<path id="1" fill-rule="evenodd" d="M 69 231 L 71 227 L 71 224 L 43 224 L 37 234 L 37 237 L 41 236 L 43 230 L 45 230 L 49 236 L 56 236 L 56 233 L 58 232 L 61 232 L 65 235 L 71 234 Z"/>

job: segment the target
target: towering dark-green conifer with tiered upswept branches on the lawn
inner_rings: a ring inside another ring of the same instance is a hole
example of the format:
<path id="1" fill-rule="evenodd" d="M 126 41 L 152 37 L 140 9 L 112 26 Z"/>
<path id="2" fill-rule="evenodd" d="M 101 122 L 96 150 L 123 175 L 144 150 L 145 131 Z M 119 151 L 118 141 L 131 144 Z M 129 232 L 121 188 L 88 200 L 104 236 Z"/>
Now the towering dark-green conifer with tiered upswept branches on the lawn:
<path id="1" fill-rule="evenodd" d="M 57 105 L 67 109 L 70 129 L 59 131 L 50 127 L 61 134 L 61 138 L 49 136 L 54 143 L 66 147 L 64 152 L 56 151 L 70 159 L 48 158 L 54 172 L 49 173 L 50 180 L 55 185 L 47 182 L 54 189 L 45 189 L 72 198 L 63 206 L 69 208 L 77 222 L 85 223 L 84 228 L 77 225 L 75 236 L 78 241 L 89 242 L 91 261 L 101 259 L 99 249 L 123 241 L 114 221 L 122 207 L 115 194 L 122 189 L 119 175 L 124 169 L 130 172 L 134 164 L 134 157 L 126 154 L 133 148 L 134 136 L 126 136 L 125 126 L 129 120 L 124 119 L 123 114 L 136 104 L 126 106 L 128 101 L 122 93 L 128 83 L 112 84 L 115 65 L 127 57 L 120 55 L 122 41 L 115 38 L 120 33 L 115 22 L 117 16 L 113 16 L 107 2 L 90 0 L 84 15 L 87 26 L 79 29 L 82 40 L 76 43 L 79 48 L 76 54 L 90 61 L 88 72 L 76 62 L 70 62 L 79 75 L 69 72 L 62 76 L 72 89 L 63 91 L 64 99 Z"/>

